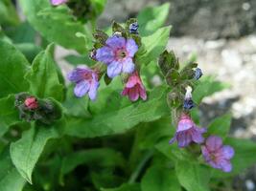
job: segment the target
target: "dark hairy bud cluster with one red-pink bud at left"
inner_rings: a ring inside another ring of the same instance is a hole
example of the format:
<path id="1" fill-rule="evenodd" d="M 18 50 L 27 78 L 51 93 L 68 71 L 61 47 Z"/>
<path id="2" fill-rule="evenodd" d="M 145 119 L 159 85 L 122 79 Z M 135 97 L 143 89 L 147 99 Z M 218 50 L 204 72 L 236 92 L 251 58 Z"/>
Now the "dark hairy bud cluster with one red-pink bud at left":
<path id="1" fill-rule="evenodd" d="M 51 99 L 38 99 L 28 93 L 19 93 L 15 96 L 14 104 L 19 111 L 19 117 L 28 122 L 36 120 L 51 124 L 61 117 L 58 105 Z"/>

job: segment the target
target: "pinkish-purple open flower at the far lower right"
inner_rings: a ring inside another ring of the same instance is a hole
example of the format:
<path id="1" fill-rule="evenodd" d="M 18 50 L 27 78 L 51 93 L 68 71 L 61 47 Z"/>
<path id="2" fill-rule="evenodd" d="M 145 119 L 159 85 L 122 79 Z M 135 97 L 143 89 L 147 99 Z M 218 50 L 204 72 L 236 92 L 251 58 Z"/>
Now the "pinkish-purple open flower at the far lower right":
<path id="1" fill-rule="evenodd" d="M 221 169 L 223 172 L 230 172 L 235 151 L 231 146 L 222 145 L 222 139 L 211 136 L 206 139 L 205 145 L 201 146 L 202 156 L 212 167 Z"/>

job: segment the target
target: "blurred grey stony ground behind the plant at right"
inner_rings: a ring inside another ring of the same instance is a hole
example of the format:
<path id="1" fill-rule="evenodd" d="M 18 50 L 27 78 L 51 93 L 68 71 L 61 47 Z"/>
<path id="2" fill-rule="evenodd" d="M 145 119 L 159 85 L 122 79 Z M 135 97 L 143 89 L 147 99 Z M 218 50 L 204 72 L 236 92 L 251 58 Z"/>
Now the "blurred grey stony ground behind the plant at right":
<path id="1" fill-rule="evenodd" d="M 168 49 L 181 61 L 196 56 L 204 74 L 230 85 L 203 100 L 204 125 L 231 111 L 230 134 L 256 141 L 256 0 L 108 0 L 99 25 L 124 22 L 165 2 L 171 2 L 167 24 L 173 26 Z M 237 177 L 234 187 L 256 190 L 256 166 Z"/>

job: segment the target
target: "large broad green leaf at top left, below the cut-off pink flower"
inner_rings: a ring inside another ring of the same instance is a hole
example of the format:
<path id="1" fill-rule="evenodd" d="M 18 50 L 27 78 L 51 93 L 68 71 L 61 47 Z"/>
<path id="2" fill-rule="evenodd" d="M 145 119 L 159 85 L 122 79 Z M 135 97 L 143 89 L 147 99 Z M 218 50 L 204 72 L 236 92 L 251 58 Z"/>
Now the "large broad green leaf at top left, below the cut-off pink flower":
<path id="1" fill-rule="evenodd" d="M 21 0 L 20 6 L 31 25 L 48 41 L 56 42 L 67 49 L 84 53 L 91 47 L 91 35 L 83 25 L 70 15 L 65 6 L 52 7 L 48 0 Z M 76 36 L 77 32 L 89 35 L 87 42 Z"/>

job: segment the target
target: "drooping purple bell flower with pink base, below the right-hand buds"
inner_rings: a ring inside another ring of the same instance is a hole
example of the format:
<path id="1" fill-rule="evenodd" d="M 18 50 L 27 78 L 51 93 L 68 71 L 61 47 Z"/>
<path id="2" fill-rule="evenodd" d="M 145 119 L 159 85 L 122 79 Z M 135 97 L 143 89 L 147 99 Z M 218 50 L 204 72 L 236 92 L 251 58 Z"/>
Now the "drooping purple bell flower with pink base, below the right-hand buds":
<path id="1" fill-rule="evenodd" d="M 182 114 L 177 124 L 175 138 L 169 143 L 172 144 L 176 140 L 179 147 L 186 147 L 191 142 L 202 143 L 204 140 L 202 134 L 205 132 L 205 128 L 198 128 L 189 116 Z"/>

